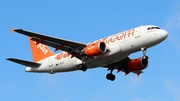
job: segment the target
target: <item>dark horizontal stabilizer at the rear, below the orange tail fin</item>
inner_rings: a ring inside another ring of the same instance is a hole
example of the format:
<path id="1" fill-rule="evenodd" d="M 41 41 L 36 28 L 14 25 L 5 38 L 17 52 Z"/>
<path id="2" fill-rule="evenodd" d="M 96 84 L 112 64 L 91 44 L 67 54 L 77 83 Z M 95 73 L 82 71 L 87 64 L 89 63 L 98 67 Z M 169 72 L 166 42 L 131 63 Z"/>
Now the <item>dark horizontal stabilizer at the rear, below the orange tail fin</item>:
<path id="1" fill-rule="evenodd" d="M 30 62 L 30 61 L 25 61 L 25 60 L 20 60 L 20 59 L 15 59 L 15 58 L 8 58 L 7 60 L 27 66 L 27 67 L 34 67 L 38 68 L 41 64 L 36 63 L 36 62 Z"/>

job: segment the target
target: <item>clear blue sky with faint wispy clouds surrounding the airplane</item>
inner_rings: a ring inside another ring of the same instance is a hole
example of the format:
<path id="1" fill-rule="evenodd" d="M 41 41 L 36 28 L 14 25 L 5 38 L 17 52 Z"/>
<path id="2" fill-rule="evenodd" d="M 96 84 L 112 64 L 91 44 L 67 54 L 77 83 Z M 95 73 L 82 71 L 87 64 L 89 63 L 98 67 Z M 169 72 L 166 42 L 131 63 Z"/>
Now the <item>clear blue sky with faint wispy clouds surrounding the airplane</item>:
<path id="1" fill-rule="evenodd" d="M 139 77 L 119 72 L 111 82 L 104 68 L 27 73 L 24 66 L 6 60 L 32 61 L 28 38 L 10 28 L 88 43 L 149 24 L 169 36 L 147 50 L 149 66 Z M 0 29 L 1 101 L 180 101 L 179 0 L 1 0 Z"/>

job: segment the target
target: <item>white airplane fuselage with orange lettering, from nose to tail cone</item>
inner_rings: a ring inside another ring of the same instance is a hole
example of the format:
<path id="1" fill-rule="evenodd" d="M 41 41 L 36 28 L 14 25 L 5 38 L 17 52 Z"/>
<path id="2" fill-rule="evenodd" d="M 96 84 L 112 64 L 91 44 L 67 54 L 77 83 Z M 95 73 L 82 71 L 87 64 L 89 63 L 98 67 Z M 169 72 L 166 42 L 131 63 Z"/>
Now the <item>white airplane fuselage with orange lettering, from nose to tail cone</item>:
<path id="1" fill-rule="evenodd" d="M 106 44 L 107 52 L 98 56 L 87 57 L 85 64 L 88 68 L 95 68 L 118 62 L 131 53 L 140 51 L 142 47 L 149 48 L 162 42 L 166 37 L 167 32 L 165 30 L 152 25 L 140 26 L 117 33 L 97 40 Z M 71 57 L 67 52 L 61 52 L 38 63 L 41 63 L 39 68 L 27 67 L 26 71 L 49 73 L 74 71 L 78 70 L 78 65 L 82 64 L 82 61 L 76 57 Z"/>

